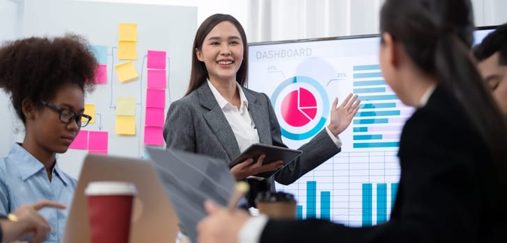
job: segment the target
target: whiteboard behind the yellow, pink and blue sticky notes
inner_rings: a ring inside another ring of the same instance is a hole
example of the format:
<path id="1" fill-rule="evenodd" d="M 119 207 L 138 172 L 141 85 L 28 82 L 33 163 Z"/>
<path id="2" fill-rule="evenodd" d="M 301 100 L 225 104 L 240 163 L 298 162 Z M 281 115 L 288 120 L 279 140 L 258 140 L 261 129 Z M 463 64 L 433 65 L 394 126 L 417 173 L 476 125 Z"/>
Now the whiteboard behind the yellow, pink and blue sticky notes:
<path id="1" fill-rule="evenodd" d="M 93 45 L 107 46 L 107 83 L 95 85 L 85 94 L 85 103 L 95 104 L 95 124 L 82 130 L 108 131 L 108 154 L 143 158 L 143 128 L 146 114 L 146 53 L 148 50 L 166 51 L 166 99 L 164 114 L 171 101 L 179 99 L 187 90 L 192 42 L 197 28 L 196 7 L 157 6 L 130 3 L 91 1 L 25 0 L 22 6 L 22 35 L 83 35 Z M 118 24 L 137 24 L 137 60 L 134 66 L 139 78 L 120 83 L 114 65 L 118 60 Z M 12 126 L 1 126 L 2 134 L 10 134 L 10 141 L 2 142 L 0 156 L 6 156 L 13 142 L 22 142 L 21 121 L 15 117 L 5 94 L 0 94 L 0 106 L 8 109 Z M 135 97 L 135 135 L 117 135 L 116 97 Z M 2 110 L 2 111 L 3 111 Z M 3 123 L 4 121 L 2 121 Z M 8 129 L 7 131 L 4 129 Z M 60 167 L 70 176 L 79 177 L 82 162 L 88 151 L 69 149 L 57 155 Z"/>

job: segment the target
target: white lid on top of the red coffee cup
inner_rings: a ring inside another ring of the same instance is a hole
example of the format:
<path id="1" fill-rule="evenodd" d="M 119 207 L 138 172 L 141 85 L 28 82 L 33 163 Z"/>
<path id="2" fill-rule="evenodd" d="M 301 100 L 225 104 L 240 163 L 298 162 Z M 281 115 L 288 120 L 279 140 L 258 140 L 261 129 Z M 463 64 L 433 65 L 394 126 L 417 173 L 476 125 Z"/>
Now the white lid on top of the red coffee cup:
<path id="1" fill-rule="evenodd" d="M 136 195 L 134 183 L 125 181 L 92 181 L 84 190 L 86 195 Z"/>

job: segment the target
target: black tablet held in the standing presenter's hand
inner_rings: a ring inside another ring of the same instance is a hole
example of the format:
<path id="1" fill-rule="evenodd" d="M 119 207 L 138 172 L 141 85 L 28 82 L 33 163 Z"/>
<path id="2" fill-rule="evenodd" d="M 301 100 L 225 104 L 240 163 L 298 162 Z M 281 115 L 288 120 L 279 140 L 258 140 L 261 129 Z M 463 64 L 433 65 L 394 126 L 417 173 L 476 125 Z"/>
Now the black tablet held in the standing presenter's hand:
<path id="1" fill-rule="evenodd" d="M 251 144 L 251 146 L 249 146 L 248 149 L 245 149 L 243 153 L 240 154 L 240 156 L 237 156 L 235 160 L 229 163 L 229 167 L 233 167 L 249 158 L 253 158 L 253 161 L 256 162 L 259 156 L 262 156 L 263 154 L 266 155 L 266 157 L 263 160 L 263 165 L 275 162 L 277 160 L 283 160 L 283 167 L 285 167 L 286 165 L 288 165 L 290 161 L 294 160 L 295 158 L 297 158 L 297 156 L 301 155 L 302 153 L 303 151 L 301 150 L 287 149 L 282 146 L 273 146 L 267 144 Z M 273 174 L 275 174 L 280 169 L 276 169 L 274 171 L 266 171 L 263 173 L 256 174 L 255 176 L 268 178 Z"/>

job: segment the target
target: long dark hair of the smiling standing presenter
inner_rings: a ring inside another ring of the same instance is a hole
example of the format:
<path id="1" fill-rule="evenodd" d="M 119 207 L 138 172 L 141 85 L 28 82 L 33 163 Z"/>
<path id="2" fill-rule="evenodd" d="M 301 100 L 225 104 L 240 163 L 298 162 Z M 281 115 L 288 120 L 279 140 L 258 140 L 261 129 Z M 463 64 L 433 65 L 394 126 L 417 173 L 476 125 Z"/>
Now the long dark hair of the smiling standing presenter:
<path id="1" fill-rule="evenodd" d="M 237 83 L 240 83 L 241 86 L 247 85 L 247 34 L 244 33 L 243 27 L 241 26 L 240 22 L 235 19 L 235 17 L 231 15 L 215 14 L 204 20 L 203 24 L 201 24 L 201 26 L 199 26 L 197 29 L 196 37 L 194 37 L 194 46 L 192 47 L 192 71 L 190 72 L 190 82 L 185 96 L 192 93 L 192 91 L 196 90 L 199 86 L 206 82 L 206 78 L 208 78 L 208 70 L 206 69 L 204 62 L 201 62 L 197 59 L 196 49 L 201 51 L 206 35 L 210 33 L 214 26 L 217 26 L 217 24 L 220 24 L 224 21 L 231 22 L 234 26 L 236 26 L 237 31 L 240 32 L 243 42 L 243 62 L 240 66 L 240 69 L 237 70 L 236 81 Z"/>

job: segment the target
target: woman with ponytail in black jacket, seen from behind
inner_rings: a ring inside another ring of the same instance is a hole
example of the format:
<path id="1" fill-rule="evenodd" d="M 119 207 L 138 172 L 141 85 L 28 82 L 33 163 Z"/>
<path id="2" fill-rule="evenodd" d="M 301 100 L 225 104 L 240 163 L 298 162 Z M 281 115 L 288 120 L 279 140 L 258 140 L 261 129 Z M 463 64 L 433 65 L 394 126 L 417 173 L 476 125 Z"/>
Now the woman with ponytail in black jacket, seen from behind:
<path id="1" fill-rule="evenodd" d="M 470 1 L 386 0 L 380 17 L 382 74 L 416 108 L 389 221 L 275 221 L 206 203 L 201 242 L 507 242 L 507 125 L 469 56 Z"/>

